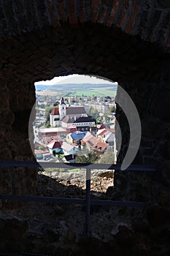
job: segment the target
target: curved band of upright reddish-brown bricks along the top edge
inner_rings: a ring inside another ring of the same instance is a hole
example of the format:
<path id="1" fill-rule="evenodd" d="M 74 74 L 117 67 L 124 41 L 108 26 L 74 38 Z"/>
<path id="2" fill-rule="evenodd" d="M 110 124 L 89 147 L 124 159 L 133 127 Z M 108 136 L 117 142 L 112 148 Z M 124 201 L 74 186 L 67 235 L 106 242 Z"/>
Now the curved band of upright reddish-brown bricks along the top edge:
<path id="1" fill-rule="evenodd" d="M 158 42 L 169 50 L 169 1 L 158 0 L 43 0 L 1 1 L 1 37 L 13 37 L 34 29 L 64 23 L 99 23 L 126 34 Z"/>

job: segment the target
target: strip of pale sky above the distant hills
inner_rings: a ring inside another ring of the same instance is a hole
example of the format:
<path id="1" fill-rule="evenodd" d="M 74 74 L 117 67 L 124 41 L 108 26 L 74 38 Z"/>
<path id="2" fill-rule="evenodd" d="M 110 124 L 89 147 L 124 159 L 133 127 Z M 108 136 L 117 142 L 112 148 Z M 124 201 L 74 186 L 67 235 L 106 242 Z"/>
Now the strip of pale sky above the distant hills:
<path id="1" fill-rule="evenodd" d="M 55 84 L 64 84 L 64 83 L 108 83 L 113 84 L 115 82 L 110 82 L 109 80 L 104 80 L 101 78 L 96 78 L 89 75 L 67 75 L 55 77 L 52 80 L 43 80 L 35 83 L 37 85 L 53 86 Z"/>

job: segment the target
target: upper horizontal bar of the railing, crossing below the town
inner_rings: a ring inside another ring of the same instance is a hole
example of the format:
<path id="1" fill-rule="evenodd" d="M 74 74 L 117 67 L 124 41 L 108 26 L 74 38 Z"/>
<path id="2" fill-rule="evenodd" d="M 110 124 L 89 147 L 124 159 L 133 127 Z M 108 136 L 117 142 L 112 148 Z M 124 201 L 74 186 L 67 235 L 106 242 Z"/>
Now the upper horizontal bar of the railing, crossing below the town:
<path id="1" fill-rule="evenodd" d="M 109 165 L 109 164 L 92 164 L 88 163 L 63 163 L 63 162 L 24 162 L 24 161 L 0 161 L 0 166 L 4 167 L 43 167 L 43 168 L 90 168 L 100 170 L 120 170 L 121 165 Z M 130 165 L 126 170 L 131 171 L 157 171 L 155 166 L 152 165 Z"/>

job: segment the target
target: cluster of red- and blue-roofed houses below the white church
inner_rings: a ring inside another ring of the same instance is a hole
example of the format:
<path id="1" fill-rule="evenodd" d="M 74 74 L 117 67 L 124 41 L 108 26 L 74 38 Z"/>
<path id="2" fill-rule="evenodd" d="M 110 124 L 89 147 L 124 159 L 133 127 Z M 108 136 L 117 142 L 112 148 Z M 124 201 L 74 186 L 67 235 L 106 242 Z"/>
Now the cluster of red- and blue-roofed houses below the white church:
<path id="1" fill-rule="evenodd" d="M 88 148 L 89 151 L 98 151 L 104 153 L 110 143 L 114 142 L 115 135 L 112 129 L 98 129 L 96 136 L 88 131 L 75 131 L 70 132 L 63 139 L 61 135 L 42 135 L 44 137 L 45 149 L 35 150 L 35 154 L 42 155 L 46 157 L 47 153 L 50 154 L 64 154 L 64 157 L 72 155 L 72 159 L 75 159 L 78 152 L 82 150 L 84 146 Z"/>

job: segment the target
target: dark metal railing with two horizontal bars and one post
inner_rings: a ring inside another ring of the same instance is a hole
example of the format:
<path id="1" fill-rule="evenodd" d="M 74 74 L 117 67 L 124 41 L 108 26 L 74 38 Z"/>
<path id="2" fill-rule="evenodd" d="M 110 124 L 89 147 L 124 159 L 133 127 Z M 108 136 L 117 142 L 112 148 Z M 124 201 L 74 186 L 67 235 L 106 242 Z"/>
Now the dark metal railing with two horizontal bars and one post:
<path id="1" fill-rule="evenodd" d="M 86 192 L 85 199 L 67 198 L 67 197 L 41 197 L 41 196 L 26 196 L 26 195 L 0 195 L 1 200 L 15 200 L 15 201 L 33 201 L 44 203 L 63 203 L 63 204 L 84 204 L 85 205 L 85 235 L 90 236 L 90 206 L 119 206 L 119 207 L 137 207 L 144 208 L 146 203 L 136 201 L 120 201 L 120 200 L 92 200 L 90 199 L 90 166 L 93 169 L 99 170 L 120 170 L 120 165 L 107 164 L 91 164 L 91 163 L 55 163 L 55 162 L 22 162 L 22 161 L 0 161 L 1 167 L 37 167 L 42 169 L 50 168 L 84 168 L 86 170 Z M 156 172 L 157 168 L 151 165 L 130 165 L 124 171 L 142 171 L 142 172 Z"/>

